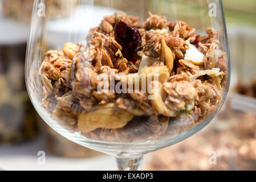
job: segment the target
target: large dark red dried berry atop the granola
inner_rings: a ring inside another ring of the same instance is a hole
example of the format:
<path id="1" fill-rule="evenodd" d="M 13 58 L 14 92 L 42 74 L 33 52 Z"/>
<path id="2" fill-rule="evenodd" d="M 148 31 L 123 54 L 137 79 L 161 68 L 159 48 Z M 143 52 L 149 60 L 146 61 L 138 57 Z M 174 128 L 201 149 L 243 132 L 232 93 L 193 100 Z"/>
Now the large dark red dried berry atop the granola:
<path id="1" fill-rule="evenodd" d="M 124 22 L 115 26 L 115 39 L 122 47 L 123 56 L 135 63 L 138 59 L 137 52 L 141 50 L 141 35 L 137 27 L 129 27 Z"/>

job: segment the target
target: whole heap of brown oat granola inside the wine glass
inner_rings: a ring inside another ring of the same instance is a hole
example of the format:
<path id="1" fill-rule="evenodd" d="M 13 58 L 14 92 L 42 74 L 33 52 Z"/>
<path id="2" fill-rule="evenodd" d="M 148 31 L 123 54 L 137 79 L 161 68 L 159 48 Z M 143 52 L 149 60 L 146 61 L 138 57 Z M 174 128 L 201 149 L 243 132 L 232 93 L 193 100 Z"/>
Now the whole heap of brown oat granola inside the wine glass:
<path id="1" fill-rule="evenodd" d="M 86 43 L 46 53 L 42 105 L 56 121 L 92 139 L 133 140 L 173 133 L 181 120 L 188 130 L 217 109 L 227 74 L 218 31 L 200 36 L 149 15 L 105 16 Z"/>

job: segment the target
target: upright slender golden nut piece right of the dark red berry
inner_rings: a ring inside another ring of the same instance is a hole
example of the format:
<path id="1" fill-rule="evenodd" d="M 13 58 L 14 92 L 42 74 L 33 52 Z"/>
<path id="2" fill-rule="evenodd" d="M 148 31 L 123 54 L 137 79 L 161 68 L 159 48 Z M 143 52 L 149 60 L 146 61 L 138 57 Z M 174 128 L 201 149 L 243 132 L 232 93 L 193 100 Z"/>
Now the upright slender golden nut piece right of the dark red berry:
<path id="1" fill-rule="evenodd" d="M 169 69 L 169 73 L 171 73 L 172 69 L 173 69 L 174 56 L 173 56 L 173 52 L 166 45 L 164 36 L 162 36 L 162 38 L 161 38 L 161 57 L 160 57 L 160 60 L 164 62 L 166 67 Z"/>

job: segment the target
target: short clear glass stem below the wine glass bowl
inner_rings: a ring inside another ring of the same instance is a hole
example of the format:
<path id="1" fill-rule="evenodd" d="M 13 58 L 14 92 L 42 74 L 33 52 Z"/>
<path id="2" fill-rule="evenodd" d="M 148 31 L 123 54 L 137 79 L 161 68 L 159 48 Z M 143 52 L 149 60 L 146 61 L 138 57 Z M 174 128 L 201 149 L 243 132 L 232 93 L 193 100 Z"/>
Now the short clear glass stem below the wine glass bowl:
<path id="1" fill-rule="evenodd" d="M 119 171 L 137 171 L 142 161 L 142 155 L 137 157 L 116 157 L 117 167 Z"/>

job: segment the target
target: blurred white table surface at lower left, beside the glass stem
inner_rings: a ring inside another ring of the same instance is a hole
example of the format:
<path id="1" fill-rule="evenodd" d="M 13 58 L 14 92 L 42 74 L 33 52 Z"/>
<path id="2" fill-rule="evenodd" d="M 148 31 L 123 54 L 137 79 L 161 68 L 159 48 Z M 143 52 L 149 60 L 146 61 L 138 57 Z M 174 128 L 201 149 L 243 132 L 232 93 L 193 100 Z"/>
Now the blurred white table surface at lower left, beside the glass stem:
<path id="1" fill-rule="evenodd" d="M 39 170 L 77 170 L 77 171 L 113 171 L 116 170 L 115 158 L 99 155 L 92 158 L 60 158 L 46 151 L 45 164 L 39 164 L 39 151 L 46 151 L 42 138 L 14 146 L 0 146 L 0 169 L 7 171 L 39 171 Z"/>

